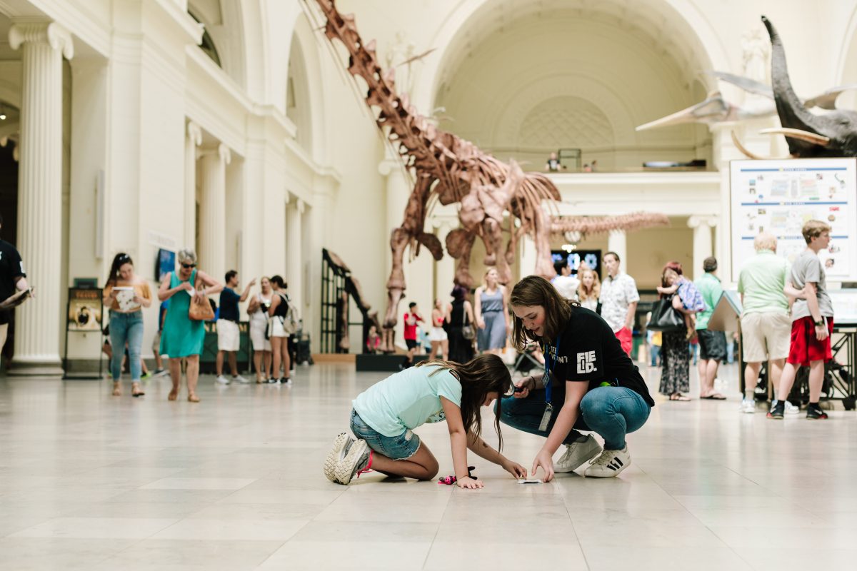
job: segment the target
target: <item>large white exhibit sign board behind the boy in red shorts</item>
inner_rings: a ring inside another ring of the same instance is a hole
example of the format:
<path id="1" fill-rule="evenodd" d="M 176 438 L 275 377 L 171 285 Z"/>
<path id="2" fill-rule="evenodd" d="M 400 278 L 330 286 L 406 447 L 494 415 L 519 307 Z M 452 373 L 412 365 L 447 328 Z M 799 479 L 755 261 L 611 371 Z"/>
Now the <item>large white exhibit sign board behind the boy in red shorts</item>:
<path id="1" fill-rule="evenodd" d="M 830 246 L 818 253 L 827 280 L 857 281 L 857 159 L 734 160 L 729 167 L 732 281 L 762 232 L 776 236 L 776 254 L 792 263 L 806 249 L 800 229 L 809 220 L 830 224 Z"/>

